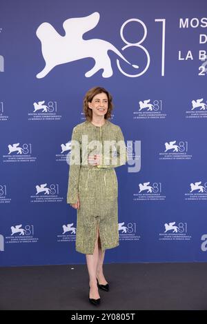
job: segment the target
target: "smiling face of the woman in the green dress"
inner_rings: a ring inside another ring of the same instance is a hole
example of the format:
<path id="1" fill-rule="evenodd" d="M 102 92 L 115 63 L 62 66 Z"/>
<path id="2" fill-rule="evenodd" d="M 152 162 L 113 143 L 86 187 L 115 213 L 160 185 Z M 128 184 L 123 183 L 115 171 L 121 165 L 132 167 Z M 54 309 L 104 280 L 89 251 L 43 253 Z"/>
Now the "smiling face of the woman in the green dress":
<path id="1" fill-rule="evenodd" d="M 88 107 L 92 110 L 93 116 L 104 116 L 108 110 L 108 97 L 105 92 L 96 94 L 92 98 L 91 103 L 88 103 Z"/>

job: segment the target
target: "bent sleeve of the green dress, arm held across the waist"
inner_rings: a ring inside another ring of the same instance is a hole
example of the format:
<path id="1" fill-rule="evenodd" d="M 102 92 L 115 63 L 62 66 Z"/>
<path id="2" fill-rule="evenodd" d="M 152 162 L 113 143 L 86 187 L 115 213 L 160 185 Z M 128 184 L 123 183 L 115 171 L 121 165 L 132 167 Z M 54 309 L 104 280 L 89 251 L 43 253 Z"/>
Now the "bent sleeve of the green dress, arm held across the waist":
<path id="1" fill-rule="evenodd" d="M 115 141 L 116 141 L 117 156 L 103 155 L 101 165 L 97 165 L 97 168 L 117 168 L 121 165 L 126 164 L 126 162 L 128 161 L 127 148 L 124 141 L 124 135 L 121 132 L 121 128 L 119 126 L 117 128 Z"/>

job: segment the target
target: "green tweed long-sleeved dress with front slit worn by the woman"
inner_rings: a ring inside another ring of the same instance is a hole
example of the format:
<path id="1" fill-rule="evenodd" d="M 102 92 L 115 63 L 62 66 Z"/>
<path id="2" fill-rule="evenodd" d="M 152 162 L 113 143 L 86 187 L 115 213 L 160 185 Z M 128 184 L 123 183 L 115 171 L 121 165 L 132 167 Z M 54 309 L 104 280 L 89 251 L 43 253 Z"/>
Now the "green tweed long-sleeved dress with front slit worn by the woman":
<path id="1" fill-rule="evenodd" d="M 118 181 L 115 168 L 127 161 L 127 149 L 121 128 L 108 120 L 102 126 L 84 121 L 73 128 L 71 140 L 67 203 L 77 203 L 79 196 L 76 250 L 83 254 L 93 254 L 97 227 L 101 250 L 117 247 Z M 104 150 L 104 143 L 107 141 L 113 143 L 110 150 Z M 102 155 L 101 165 L 88 163 L 88 155 L 95 153 Z M 72 164 L 72 159 L 76 163 Z"/>

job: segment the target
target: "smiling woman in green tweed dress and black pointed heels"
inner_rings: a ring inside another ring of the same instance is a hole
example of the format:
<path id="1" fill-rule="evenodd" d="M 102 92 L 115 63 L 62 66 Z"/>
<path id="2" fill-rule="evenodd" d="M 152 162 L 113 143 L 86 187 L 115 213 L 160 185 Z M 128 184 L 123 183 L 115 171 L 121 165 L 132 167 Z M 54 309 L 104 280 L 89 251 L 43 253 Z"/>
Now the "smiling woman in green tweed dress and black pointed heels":
<path id="1" fill-rule="evenodd" d="M 109 290 L 105 250 L 119 245 L 115 168 L 126 164 L 127 150 L 121 128 L 108 121 L 112 97 L 106 89 L 90 89 L 83 111 L 86 121 L 72 130 L 67 203 L 77 209 L 76 250 L 86 254 L 89 301 L 99 305 L 98 288 Z"/>

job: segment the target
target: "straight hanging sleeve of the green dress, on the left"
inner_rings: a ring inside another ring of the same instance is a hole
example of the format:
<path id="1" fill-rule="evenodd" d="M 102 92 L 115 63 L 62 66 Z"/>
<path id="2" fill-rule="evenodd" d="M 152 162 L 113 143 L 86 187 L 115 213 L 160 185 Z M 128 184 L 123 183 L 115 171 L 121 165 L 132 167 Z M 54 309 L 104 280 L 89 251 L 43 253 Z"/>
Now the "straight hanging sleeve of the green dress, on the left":
<path id="1" fill-rule="evenodd" d="M 77 203 L 79 194 L 79 173 L 81 164 L 81 149 L 79 141 L 79 133 L 76 128 L 72 130 L 70 152 L 70 167 L 68 174 L 68 193 L 67 203 Z"/>

